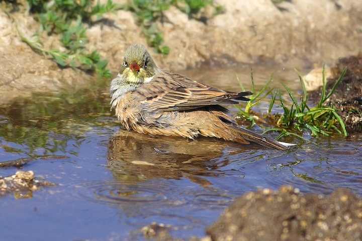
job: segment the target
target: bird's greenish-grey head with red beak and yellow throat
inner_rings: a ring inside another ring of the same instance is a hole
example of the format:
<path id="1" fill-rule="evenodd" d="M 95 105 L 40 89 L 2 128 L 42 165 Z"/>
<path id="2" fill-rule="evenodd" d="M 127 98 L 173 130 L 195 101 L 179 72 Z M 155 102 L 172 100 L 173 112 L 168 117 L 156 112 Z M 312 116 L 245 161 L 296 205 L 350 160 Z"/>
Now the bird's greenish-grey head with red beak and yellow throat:
<path id="1" fill-rule="evenodd" d="M 143 45 L 135 44 L 126 50 L 120 74 L 127 78 L 127 82 L 148 82 L 156 71 L 157 66 Z"/>

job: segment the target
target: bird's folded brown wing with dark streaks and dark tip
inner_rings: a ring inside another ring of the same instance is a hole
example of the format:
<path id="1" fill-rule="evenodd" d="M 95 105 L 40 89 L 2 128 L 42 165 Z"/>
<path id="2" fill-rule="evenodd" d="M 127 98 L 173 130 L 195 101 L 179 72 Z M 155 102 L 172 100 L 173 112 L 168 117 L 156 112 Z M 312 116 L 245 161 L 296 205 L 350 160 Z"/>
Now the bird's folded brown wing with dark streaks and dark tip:
<path id="1" fill-rule="evenodd" d="M 163 111 L 188 110 L 206 105 L 233 104 L 251 92 L 229 92 L 193 81 L 183 75 L 162 72 L 136 92 L 137 99 L 149 108 Z"/>

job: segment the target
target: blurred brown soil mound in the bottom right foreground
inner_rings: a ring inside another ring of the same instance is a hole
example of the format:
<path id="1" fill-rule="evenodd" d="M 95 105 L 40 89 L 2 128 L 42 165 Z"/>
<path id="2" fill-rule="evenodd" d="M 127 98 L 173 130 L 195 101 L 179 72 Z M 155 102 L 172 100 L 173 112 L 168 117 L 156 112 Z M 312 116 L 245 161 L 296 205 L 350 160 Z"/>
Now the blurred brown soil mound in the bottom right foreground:
<path id="1" fill-rule="evenodd" d="M 238 197 L 207 228 L 212 240 L 361 240 L 362 199 L 339 189 L 329 196 L 282 186 Z"/>

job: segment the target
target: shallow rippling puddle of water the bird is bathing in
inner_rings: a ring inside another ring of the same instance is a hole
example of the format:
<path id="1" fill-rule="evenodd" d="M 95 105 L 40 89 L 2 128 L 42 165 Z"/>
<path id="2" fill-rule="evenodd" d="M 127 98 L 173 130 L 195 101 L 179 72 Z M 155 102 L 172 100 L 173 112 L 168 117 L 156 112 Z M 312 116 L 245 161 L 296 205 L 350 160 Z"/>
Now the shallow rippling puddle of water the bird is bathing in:
<path id="1" fill-rule="evenodd" d="M 235 72 L 249 89 L 248 69 L 187 74 L 236 91 Z M 254 70 L 256 86 L 269 75 L 268 69 Z M 272 85 L 281 88 L 283 80 L 298 93 L 296 77 L 277 70 Z M 288 138 L 297 147 L 276 151 L 137 134 L 120 129 L 109 111 L 108 82 L 34 94 L 0 108 L 1 162 L 29 158 L 22 170 L 59 184 L 32 198 L 1 197 L 1 240 L 139 240 L 140 228 L 154 221 L 169 225 L 174 237 L 201 237 L 236 196 L 257 187 L 289 184 L 324 194 L 347 187 L 362 195 L 362 136 L 305 134 L 309 141 Z M 0 175 L 17 170 L 0 169 Z"/>

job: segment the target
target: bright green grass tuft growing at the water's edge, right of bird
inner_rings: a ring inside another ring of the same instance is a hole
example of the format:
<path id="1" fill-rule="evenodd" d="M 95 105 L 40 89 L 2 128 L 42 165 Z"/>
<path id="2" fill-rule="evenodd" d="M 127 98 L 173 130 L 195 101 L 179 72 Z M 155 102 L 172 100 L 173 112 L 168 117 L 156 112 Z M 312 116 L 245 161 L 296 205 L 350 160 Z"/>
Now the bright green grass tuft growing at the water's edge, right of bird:
<path id="1" fill-rule="evenodd" d="M 330 105 L 325 105 L 324 103 L 326 100 L 331 96 L 331 94 L 335 91 L 337 85 L 343 78 L 347 68 L 345 68 L 337 80 L 337 82 L 334 84 L 333 88 L 329 91 L 328 94 L 326 94 L 326 83 L 325 83 L 325 69 L 323 67 L 323 86 L 322 86 L 322 93 L 321 97 L 317 103 L 316 106 L 310 107 L 307 103 L 307 90 L 305 88 L 305 83 L 301 75 L 296 70 L 299 79 L 303 86 L 303 95 L 301 97 L 300 103 L 297 101 L 296 97 L 294 96 L 293 92 L 288 88 L 287 85 L 283 84 L 285 89 L 287 90 L 289 96 L 291 97 L 292 104 L 291 106 L 287 106 L 284 102 L 285 100 L 282 98 L 282 95 L 279 90 L 275 91 L 275 93 L 272 93 L 272 90 L 269 89 L 266 91 L 264 95 L 262 95 L 260 98 L 258 96 L 261 95 L 262 92 L 266 89 L 266 87 L 269 85 L 271 79 L 270 77 L 269 81 L 264 85 L 264 87 L 255 95 L 251 96 L 251 100 L 248 101 L 245 110 L 240 110 L 240 116 L 247 119 L 248 121 L 252 122 L 252 125 L 255 123 L 255 121 L 261 121 L 266 124 L 273 125 L 274 127 L 267 129 L 264 131 L 264 133 L 269 131 L 279 131 L 281 134 L 278 136 L 277 139 L 279 139 L 282 136 L 286 135 L 294 135 L 299 136 L 296 133 L 290 132 L 290 128 L 294 128 L 298 131 L 302 130 L 309 130 L 312 135 L 318 136 L 318 134 L 322 135 L 329 135 L 332 130 L 338 132 L 339 134 L 342 134 L 344 136 L 347 135 L 344 123 L 342 118 L 339 116 L 338 108 L 334 108 Z M 254 85 L 253 78 L 251 75 L 252 85 Z M 240 81 L 239 81 L 240 82 Z M 244 88 L 242 87 L 244 90 Z M 253 91 L 253 87 L 252 87 Z M 252 114 L 250 111 L 250 107 L 254 104 L 258 103 L 260 100 L 264 99 L 266 95 L 271 93 L 271 98 L 269 102 L 269 107 L 267 114 L 263 117 L 267 117 L 268 119 L 274 120 L 273 122 L 266 122 L 263 120 L 262 117 Z M 275 101 L 277 100 L 277 96 L 279 96 L 280 105 L 279 107 L 283 108 L 283 113 L 277 113 L 277 114 L 271 114 L 272 108 L 275 104 Z M 339 127 L 338 127 L 339 125 Z"/>

